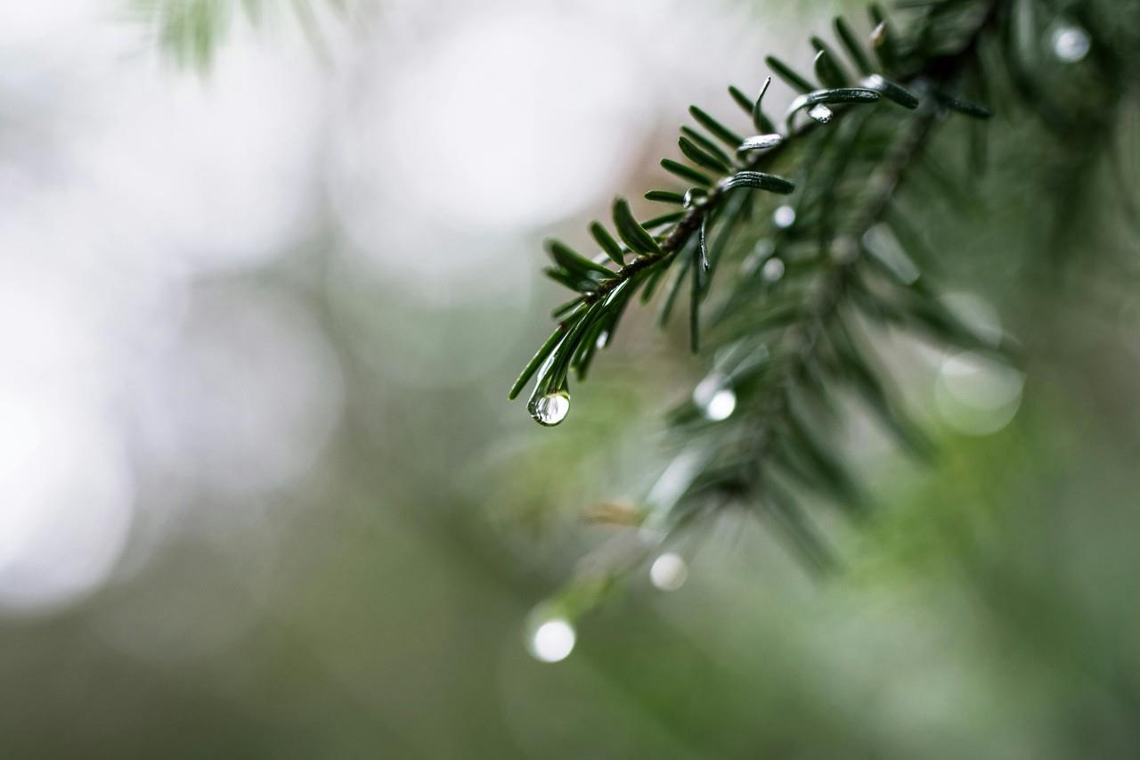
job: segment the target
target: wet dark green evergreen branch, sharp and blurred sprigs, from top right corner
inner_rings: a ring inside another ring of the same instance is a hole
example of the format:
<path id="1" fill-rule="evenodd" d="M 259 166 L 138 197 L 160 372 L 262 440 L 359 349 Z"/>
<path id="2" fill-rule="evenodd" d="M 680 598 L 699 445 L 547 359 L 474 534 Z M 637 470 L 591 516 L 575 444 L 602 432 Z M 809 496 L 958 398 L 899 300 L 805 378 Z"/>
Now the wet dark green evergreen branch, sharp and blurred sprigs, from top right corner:
<path id="1" fill-rule="evenodd" d="M 1137 3 L 1109 5 L 1126 6 L 1126 15 Z M 986 163 L 990 104 L 1028 110 L 1068 135 L 1085 121 L 1112 123 L 1134 81 L 1134 35 L 1107 25 L 1093 0 L 899 6 L 902 23 L 871 6 L 866 35 L 836 18 L 833 43 L 811 40 L 812 74 L 767 58 L 797 92 L 780 122 L 764 107 L 771 78 L 756 98 L 728 88 L 755 136 L 692 106 L 697 123 L 679 138 L 689 162 L 661 162 L 687 189 L 645 195 L 674 211 L 638 221 L 617 199 L 617 234 L 593 223 L 601 252 L 592 257 L 547 241 L 545 273 L 575 296 L 554 310 L 554 332 L 511 388 L 514 398 L 537 378 L 528 405 L 537 421 L 557 425 L 567 415 L 570 373 L 586 377 L 635 297 L 658 297 L 665 325 L 687 290 L 691 348 L 714 355 L 692 399 L 668 417 L 685 448 L 649 494 L 641 520 L 661 540 L 739 504 L 771 519 L 811 565 L 826 567 L 830 553 L 800 493 L 819 492 L 852 517 L 866 504 L 849 463 L 825 443 L 840 394 L 860 397 L 915 454 L 931 447 L 902 410 L 874 331 L 890 326 L 987 353 L 1011 348 L 977 334 L 939 300 L 922 269 L 950 252 L 928 249 L 897 202 L 901 192 L 919 181 L 928 201 L 969 209 L 970 184 Z M 1062 100 L 1070 94 L 1056 74 L 1074 64 L 1085 84 L 1078 98 Z M 969 135 L 961 179 L 928 149 L 944 123 Z M 1080 187 L 1075 176 L 1066 183 Z M 787 200 L 773 210 L 774 196 Z M 734 253 L 742 259 L 736 270 L 726 266 Z M 726 292 L 715 292 L 714 280 L 726 281 Z"/>

